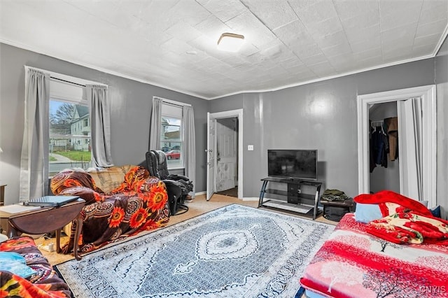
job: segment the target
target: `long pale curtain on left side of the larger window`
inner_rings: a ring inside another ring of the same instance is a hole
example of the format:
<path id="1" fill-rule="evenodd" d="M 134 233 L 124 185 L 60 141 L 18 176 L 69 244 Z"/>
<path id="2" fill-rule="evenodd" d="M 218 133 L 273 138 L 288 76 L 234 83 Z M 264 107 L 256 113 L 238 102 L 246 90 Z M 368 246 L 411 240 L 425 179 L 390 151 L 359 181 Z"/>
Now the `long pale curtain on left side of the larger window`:
<path id="1" fill-rule="evenodd" d="M 50 73 L 25 66 L 25 127 L 20 159 L 20 201 L 48 192 Z"/>

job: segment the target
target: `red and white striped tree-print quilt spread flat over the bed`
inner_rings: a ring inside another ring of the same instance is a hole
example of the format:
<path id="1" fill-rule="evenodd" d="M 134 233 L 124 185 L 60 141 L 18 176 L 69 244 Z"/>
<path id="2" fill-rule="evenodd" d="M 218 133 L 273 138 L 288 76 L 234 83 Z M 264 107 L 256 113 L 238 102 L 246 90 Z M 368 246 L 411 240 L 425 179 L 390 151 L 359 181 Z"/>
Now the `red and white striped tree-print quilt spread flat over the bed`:
<path id="1" fill-rule="evenodd" d="M 347 213 L 300 282 L 324 297 L 448 297 L 448 247 L 397 244 Z"/>

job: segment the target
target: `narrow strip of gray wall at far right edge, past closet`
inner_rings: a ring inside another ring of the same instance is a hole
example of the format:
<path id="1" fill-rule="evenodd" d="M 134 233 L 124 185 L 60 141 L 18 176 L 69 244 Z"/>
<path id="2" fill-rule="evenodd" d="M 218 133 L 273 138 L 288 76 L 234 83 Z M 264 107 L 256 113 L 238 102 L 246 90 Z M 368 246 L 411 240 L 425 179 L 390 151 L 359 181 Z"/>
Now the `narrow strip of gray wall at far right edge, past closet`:
<path id="1" fill-rule="evenodd" d="M 434 62 L 437 84 L 437 203 L 448 215 L 448 38 Z"/>

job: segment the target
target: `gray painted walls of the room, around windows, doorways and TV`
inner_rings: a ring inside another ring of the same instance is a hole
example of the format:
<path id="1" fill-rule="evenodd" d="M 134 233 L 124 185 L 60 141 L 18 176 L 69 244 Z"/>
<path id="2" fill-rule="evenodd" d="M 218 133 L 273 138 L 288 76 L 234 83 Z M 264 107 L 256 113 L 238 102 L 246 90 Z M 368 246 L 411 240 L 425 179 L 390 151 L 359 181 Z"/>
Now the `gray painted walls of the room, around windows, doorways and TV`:
<path id="1" fill-rule="evenodd" d="M 196 185 L 206 181 L 207 112 L 244 109 L 244 197 L 258 197 L 267 176 L 268 148 L 316 148 L 323 187 L 358 194 L 356 96 L 437 83 L 437 202 L 448 208 L 447 41 L 437 57 L 325 80 L 275 92 L 237 94 L 204 101 L 0 43 L 0 180 L 6 201 L 18 201 L 24 122 L 23 65 L 106 83 L 112 101 L 112 146 L 116 164 L 139 164 L 148 149 L 151 98 L 193 104 L 196 128 Z M 247 151 L 247 145 L 254 145 Z"/>

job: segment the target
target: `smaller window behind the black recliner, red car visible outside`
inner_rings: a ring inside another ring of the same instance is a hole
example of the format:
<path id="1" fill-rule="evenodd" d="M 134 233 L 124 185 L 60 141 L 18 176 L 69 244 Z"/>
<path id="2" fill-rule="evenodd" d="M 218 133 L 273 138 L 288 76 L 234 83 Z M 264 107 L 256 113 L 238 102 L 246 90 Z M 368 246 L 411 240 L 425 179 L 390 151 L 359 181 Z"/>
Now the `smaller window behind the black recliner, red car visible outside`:
<path id="1" fill-rule="evenodd" d="M 163 102 L 160 148 L 167 155 L 169 169 L 183 167 L 182 106 Z"/>

